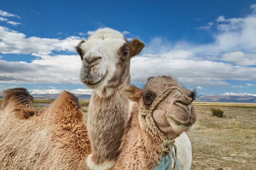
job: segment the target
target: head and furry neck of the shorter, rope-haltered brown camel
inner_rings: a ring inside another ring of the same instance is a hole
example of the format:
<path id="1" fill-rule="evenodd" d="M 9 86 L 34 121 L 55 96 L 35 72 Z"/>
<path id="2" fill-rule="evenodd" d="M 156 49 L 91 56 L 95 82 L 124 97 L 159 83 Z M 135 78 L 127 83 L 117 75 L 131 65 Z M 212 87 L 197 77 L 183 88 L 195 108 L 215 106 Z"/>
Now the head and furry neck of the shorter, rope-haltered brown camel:
<path id="1" fill-rule="evenodd" d="M 142 121 L 142 109 L 148 109 L 163 91 L 179 87 L 172 77 L 151 77 L 144 89 L 133 85 L 125 89 L 125 94 L 137 107 L 125 127 L 125 134 L 120 146 L 120 155 L 113 170 L 154 170 L 165 155 L 162 152 L 163 138 L 154 136 L 145 129 Z M 180 87 L 179 87 L 180 88 Z M 173 90 L 153 111 L 153 119 L 157 128 L 166 139 L 175 139 L 182 132 L 191 130 L 197 120 L 195 107 L 192 105 L 195 91 L 180 88 L 183 93 Z M 150 126 L 149 119 L 145 118 Z M 151 127 L 151 126 L 150 126 Z M 172 161 L 173 167 L 173 161 Z M 186 167 L 182 167 L 186 169 Z"/>

